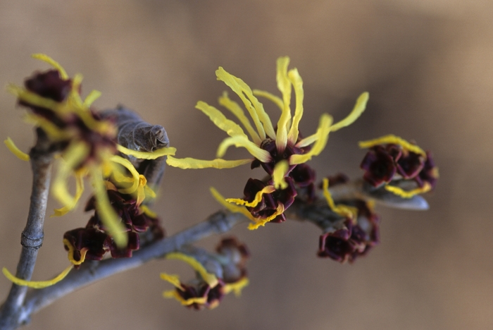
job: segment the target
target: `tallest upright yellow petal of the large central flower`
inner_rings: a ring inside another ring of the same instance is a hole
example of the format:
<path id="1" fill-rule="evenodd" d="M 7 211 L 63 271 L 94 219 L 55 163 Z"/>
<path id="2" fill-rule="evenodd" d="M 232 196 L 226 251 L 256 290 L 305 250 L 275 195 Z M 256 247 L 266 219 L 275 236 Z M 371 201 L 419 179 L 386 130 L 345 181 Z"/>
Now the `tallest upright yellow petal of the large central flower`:
<path id="1" fill-rule="evenodd" d="M 287 123 L 291 119 L 291 82 L 287 76 L 287 66 L 289 65 L 289 57 L 280 57 L 277 59 L 277 88 L 282 93 L 282 113 L 277 121 L 277 134 L 275 136 L 275 145 L 278 152 L 284 152 L 287 145 Z"/>

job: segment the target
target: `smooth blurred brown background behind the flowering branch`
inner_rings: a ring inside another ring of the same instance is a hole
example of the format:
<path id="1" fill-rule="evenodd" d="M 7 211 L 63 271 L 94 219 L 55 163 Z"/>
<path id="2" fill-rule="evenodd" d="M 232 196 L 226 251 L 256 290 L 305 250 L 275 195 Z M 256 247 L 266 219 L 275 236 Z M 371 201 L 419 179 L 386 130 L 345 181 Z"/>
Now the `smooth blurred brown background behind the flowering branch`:
<path id="1" fill-rule="evenodd" d="M 226 89 L 218 66 L 276 92 L 275 60 L 289 55 L 304 78 L 305 135 L 323 112 L 343 118 L 370 92 L 363 116 L 311 162 L 319 176 L 360 176 L 356 142 L 387 133 L 432 149 L 441 174 L 430 211 L 378 209 L 381 243 L 355 264 L 318 259 L 309 224 L 242 226 L 234 233 L 253 256 L 242 298 L 187 310 L 161 298 L 170 285 L 158 275 L 192 271 L 151 262 L 58 300 L 29 329 L 493 329 L 492 14 L 487 0 L 0 1 L 1 84 L 48 68 L 30 54 L 49 54 L 85 75 L 85 94 L 103 92 L 96 107 L 122 103 L 165 126 L 179 157 L 212 159 L 226 136 L 194 109 Z M 2 139 L 29 149 L 32 128 L 6 92 L 0 111 Z M 15 271 L 31 174 L 0 149 L 0 266 Z M 168 169 L 155 209 L 175 233 L 218 209 L 209 186 L 239 197 L 250 176 L 246 166 Z M 67 266 L 63 233 L 87 219 L 81 207 L 46 219 L 34 279 Z M 1 278 L 1 300 L 9 287 Z"/>

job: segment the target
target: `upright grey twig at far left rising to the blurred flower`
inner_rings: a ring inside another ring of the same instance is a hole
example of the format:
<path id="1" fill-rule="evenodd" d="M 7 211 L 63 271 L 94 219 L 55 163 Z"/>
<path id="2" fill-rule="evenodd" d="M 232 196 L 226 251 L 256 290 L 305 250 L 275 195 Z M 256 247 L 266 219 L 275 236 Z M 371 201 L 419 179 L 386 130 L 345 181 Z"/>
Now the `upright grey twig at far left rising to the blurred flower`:
<path id="1" fill-rule="evenodd" d="M 30 151 L 30 161 L 33 173 L 32 193 L 27 216 L 27 224 L 20 238 L 23 245 L 15 276 L 19 279 L 30 280 L 34 271 L 37 252 L 43 243 L 44 216 L 48 200 L 51 164 L 53 152 L 49 151 L 49 142 L 44 133 L 38 130 L 37 142 Z M 0 309 L 0 329 L 15 329 L 21 319 L 26 286 L 12 284 L 11 291 Z"/>

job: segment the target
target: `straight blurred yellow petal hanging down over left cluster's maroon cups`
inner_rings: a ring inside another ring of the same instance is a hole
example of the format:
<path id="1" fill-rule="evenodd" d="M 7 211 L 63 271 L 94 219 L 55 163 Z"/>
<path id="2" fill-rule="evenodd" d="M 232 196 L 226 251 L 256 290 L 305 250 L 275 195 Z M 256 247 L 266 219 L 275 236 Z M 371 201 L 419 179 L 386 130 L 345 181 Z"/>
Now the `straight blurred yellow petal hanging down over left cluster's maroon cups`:
<path id="1" fill-rule="evenodd" d="M 125 232 L 125 227 L 118 218 L 118 214 L 111 207 L 101 169 L 97 166 L 92 166 L 90 174 L 92 185 L 94 186 L 94 197 L 96 197 L 96 211 L 101 216 L 104 226 L 108 228 L 108 233 L 113 237 L 116 246 L 125 247 L 128 242 L 128 236 Z"/>

